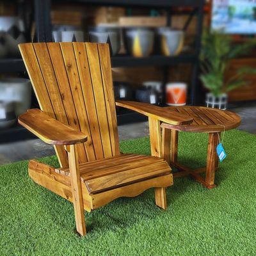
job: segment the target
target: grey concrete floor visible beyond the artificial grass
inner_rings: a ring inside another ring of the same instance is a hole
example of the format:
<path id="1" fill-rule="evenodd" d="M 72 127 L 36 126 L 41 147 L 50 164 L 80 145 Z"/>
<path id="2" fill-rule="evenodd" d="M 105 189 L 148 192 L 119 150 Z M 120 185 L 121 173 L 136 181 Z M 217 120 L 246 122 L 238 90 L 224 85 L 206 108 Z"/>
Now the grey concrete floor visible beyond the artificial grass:
<path id="1" fill-rule="evenodd" d="M 230 104 L 229 110 L 238 113 L 242 118 L 240 130 L 256 134 L 256 102 Z M 121 125 L 118 127 L 120 140 L 148 136 L 148 123 Z M 51 156 L 54 150 L 51 145 L 41 140 L 17 141 L 0 145 L 0 165 L 16 161 Z"/>

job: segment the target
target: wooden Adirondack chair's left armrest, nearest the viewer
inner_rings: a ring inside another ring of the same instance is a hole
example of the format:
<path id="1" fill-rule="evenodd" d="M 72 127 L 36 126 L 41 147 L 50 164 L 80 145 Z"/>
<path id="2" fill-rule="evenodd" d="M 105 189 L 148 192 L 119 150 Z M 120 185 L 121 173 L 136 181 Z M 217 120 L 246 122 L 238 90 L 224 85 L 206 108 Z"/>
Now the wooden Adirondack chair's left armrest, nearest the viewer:
<path id="1" fill-rule="evenodd" d="M 23 125 L 42 141 L 52 145 L 74 145 L 87 140 L 86 134 L 45 114 L 40 109 L 29 109 L 18 118 Z"/>

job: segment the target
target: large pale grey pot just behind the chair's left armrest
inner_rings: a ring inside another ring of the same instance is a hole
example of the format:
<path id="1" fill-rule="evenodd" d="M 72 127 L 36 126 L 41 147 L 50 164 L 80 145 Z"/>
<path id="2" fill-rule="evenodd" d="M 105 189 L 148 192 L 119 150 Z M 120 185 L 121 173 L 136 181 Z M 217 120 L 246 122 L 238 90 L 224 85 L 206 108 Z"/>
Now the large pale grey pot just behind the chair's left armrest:
<path id="1" fill-rule="evenodd" d="M 31 82 L 25 78 L 0 79 L 0 100 L 13 102 L 16 116 L 31 105 Z"/>

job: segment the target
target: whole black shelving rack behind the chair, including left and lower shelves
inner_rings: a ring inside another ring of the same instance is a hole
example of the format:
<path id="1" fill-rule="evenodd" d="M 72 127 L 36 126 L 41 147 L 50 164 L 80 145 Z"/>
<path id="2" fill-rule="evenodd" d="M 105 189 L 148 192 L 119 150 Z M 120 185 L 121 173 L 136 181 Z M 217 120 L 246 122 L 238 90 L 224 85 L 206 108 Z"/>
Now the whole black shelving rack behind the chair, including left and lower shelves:
<path id="1" fill-rule="evenodd" d="M 52 0 L 57 2 L 84 3 L 88 5 L 98 6 L 125 6 L 136 8 L 164 8 L 167 10 L 168 19 L 166 26 L 170 26 L 171 8 L 173 7 L 190 7 L 191 15 L 184 26 L 184 30 L 188 28 L 191 17 L 197 17 L 195 47 L 193 53 L 180 54 L 179 56 L 148 56 L 146 58 L 134 58 L 127 55 L 118 55 L 111 58 L 112 67 L 148 67 L 161 66 L 164 72 L 164 81 L 167 82 L 168 66 L 178 63 L 191 63 L 193 65 L 191 76 L 190 102 L 196 104 L 198 69 L 199 69 L 199 53 L 200 42 L 202 36 L 202 26 L 204 18 L 204 0 Z M 36 40 L 38 42 L 52 41 L 51 26 L 51 0 L 34 0 L 35 23 L 36 23 Z M 21 58 L 0 60 L 0 72 L 26 72 L 26 68 Z M 127 111 L 117 115 L 118 124 L 127 122 L 146 120 L 142 115 Z M 0 131 L 0 143 L 12 140 L 23 140 L 33 138 L 30 133 L 20 125 L 10 129 Z"/>

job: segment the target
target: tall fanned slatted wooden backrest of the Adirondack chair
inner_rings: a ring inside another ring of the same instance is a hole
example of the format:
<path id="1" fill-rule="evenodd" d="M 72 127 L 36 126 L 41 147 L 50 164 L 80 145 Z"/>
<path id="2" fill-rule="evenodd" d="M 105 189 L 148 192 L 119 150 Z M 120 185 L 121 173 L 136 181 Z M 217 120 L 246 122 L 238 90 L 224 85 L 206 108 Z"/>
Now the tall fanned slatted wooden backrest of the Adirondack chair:
<path id="1" fill-rule="evenodd" d="M 88 134 L 77 145 L 79 163 L 120 154 L 108 44 L 19 45 L 40 108 Z M 63 146 L 55 147 L 67 166 Z"/>

